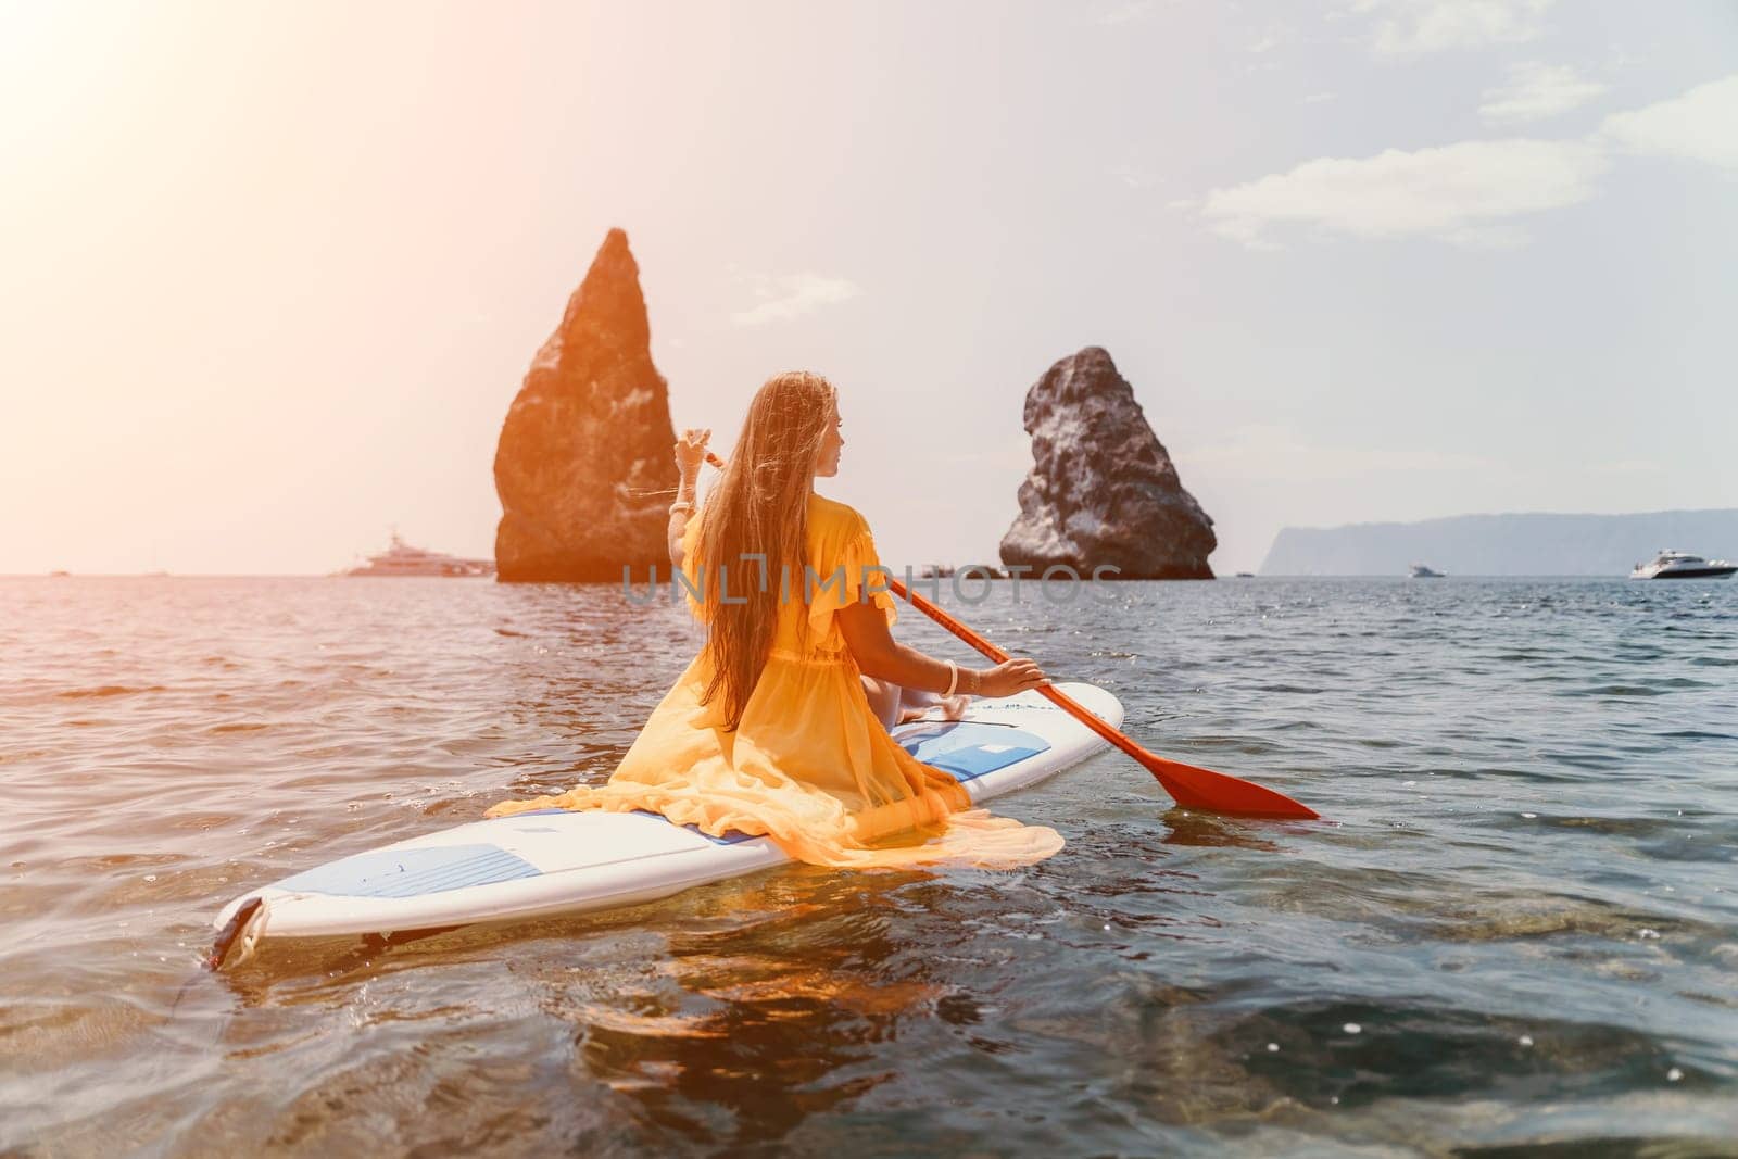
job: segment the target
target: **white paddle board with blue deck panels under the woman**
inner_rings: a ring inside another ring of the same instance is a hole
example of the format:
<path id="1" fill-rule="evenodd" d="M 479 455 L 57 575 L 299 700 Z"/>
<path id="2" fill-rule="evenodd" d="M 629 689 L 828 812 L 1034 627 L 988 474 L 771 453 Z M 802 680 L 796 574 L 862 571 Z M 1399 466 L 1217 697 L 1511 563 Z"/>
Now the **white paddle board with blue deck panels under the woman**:
<path id="1" fill-rule="evenodd" d="M 1123 705 L 1091 685 L 1058 688 L 1112 728 Z M 961 721 L 900 725 L 893 738 L 956 777 L 973 801 L 1025 789 L 1105 742 L 1038 692 L 973 700 Z M 391 935 L 636 905 L 780 865 L 770 838 L 711 838 L 655 813 L 542 810 L 398 841 L 261 886 L 217 914 L 221 966 L 261 938 Z"/>

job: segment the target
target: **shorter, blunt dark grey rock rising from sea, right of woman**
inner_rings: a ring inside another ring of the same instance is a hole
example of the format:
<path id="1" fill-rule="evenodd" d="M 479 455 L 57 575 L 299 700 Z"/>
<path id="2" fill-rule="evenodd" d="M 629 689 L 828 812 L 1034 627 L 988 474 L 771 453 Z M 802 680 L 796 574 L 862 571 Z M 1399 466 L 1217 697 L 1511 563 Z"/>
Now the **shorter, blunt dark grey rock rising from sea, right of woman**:
<path id="1" fill-rule="evenodd" d="M 1116 579 L 1213 579 L 1213 520 L 1107 351 L 1088 346 L 1050 367 L 1025 393 L 1025 433 L 1034 462 L 1003 563 L 1034 575 L 1065 563 L 1086 577 L 1104 563 Z"/>

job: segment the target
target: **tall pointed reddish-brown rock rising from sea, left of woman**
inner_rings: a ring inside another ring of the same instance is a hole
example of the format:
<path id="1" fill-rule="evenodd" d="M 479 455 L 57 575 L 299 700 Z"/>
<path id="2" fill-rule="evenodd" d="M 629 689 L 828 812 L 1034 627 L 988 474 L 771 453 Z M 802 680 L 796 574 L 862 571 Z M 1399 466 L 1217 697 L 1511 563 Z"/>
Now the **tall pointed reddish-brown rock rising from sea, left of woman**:
<path id="1" fill-rule="evenodd" d="M 619 582 L 669 554 L 669 391 L 627 235 L 610 229 L 537 351 L 495 448 L 502 580 Z"/>

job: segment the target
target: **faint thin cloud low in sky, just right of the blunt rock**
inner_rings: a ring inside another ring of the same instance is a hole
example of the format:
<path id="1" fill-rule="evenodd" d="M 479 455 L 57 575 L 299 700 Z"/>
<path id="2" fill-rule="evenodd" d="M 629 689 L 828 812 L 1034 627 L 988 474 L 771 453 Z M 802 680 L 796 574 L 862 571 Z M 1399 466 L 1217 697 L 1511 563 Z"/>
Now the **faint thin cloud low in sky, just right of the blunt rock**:
<path id="1" fill-rule="evenodd" d="M 1423 471 L 1488 471 L 1491 460 L 1406 447 L 1321 447 L 1272 424 L 1241 426 L 1217 443 L 1171 452 L 1177 469 L 1194 478 L 1210 473 L 1243 480 L 1352 480 L 1370 474 Z"/>

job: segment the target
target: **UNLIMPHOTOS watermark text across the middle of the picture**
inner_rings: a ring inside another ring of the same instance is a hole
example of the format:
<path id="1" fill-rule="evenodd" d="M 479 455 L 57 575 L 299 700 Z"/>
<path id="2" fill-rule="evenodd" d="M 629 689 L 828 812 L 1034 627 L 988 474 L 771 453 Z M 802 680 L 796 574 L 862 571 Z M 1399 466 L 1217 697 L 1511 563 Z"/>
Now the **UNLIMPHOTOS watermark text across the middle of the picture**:
<path id="1" fill-rule="evenodd" d="M 772 593 L 772 572 L 766 566 L 766 554 L 760 551 L 749 551 L 737 556 L 737 572 L 730 570 L 730 565 L 720 565 L 716 572 L 707 568 L 709 573 L 718 577 L 718 601 L 720 603 L 747 603 L 749 594 L 770 594 Z M 1111 601 L 1116 596 L 1107 593 L 1104 580 L 1114 579 L 1121 573 L 1114 563 L 1100 563 L 1093 566 L 1086 575 L 1081 575 L 1078 568 L 1067 563 L 1051 563 L 1043 572 L 1038 568 L 1015 563 L 1006 568 L 992 568 L 982 563 L 972 563 L 963 568 L 954 568 L 951 575 L 916 575 L 912 568 L 905 568 L 905 591 L 918 593 L 918 589 L 926 587 L 930 599 L 942 598 L 942 580 L 945 579 L 952 589 L 954 601 L 965 605 L 977 605 L 989 599 L 991 584 L 998 579 L 1006 579 L 1013 586 L 1013 601 L 1020 601 L 1020 584 L 1027 587 L 1038 586 L 1039 594 L 1055 605 L 1074 603 L 1081 589 L 1091 593 L 1095 599 Z M 869 601 L 881 593 L 893 591 L 892 587 L 893 568 L 879 563 L 866 563 L 857 568 L 857 599 Z M 789 565 L 779 566 L 779 603 L 786 605 L 793 599 L 801 599 L 803 603 L 813 603 L 815 599 L 831 598 L 838 603 L 848 603 L 852 594 L 852 586 L 848 584 L 850 572 L 841 563 L 826 575 L 817 572 L 812 565 L 803 565 L 803 575 L 798 580 L 793 575 Z M 707 575 L 688 575 L 683 568 L 671 568 L 669 580 L 664 584 L 669 593 L 671 603 L 676 603 L 683 596 L 692 596 L 697 603 L 706 603 L 706 584 Z M 653 563 L 650 572 L 650 580 L 645 587 L 636 587 L 633 582 L 633 570 L 622 566 L 622 593 L 627 596 L 629 603 L 647 605 L 657 599 L 659 589 L 659 566 Z"/>

